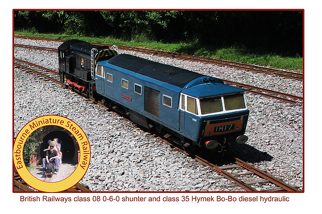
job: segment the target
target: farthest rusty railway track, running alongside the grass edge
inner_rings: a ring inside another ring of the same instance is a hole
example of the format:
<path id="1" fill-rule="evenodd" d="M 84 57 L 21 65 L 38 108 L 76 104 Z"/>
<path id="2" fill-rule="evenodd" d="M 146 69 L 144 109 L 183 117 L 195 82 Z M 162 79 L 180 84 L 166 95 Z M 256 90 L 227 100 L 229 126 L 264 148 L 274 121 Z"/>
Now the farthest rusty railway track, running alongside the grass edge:
<path id="1" fill-rule="evenodd" d="M 24 37 L 24 36 L 15 36 L 15 37 L 22 38 L 22 39 L 32 39 L 32 40 L 47 40 L 47 41 L 55 41 L 55 42 L 65 42 L 65 40 L 56 40 L 56 39 L 47 39 L 47 38 Z M 99 44 L 99 43 L 92 43 L 92 44 L 104 45 L 104 44 Z M 254 72 L 273 74 L 273 75 L 277 75 L 277 76 L 281 76 L 281 77 L 285 77 L 285 78 L 303 80 L 303 73 L 298 73 L 298 72 L 289 72 L 289 71 L 284 71 L 284 70 L 280 70 L 280 69 L 267 68 L 267 67 L 256 66 L 256 65 L 234 63 L 234 62 L 229 62 L 229 61 L 224 61 L 224 60 L 216 60 L 216 59 L 211 59 L 211 58 L 191 56 L 191 55 L 186 55 L 186 54 L 178 54 L 178 53 L 173 53 L 173 52 L 149 50 L 149 49 L 144 49 L 144 48 L 133 48 L 133 47 L 125 47 L 125 46 L 118 46 L 118 48 L 123 49 L 123 50 L 137 51 L 137 52 L 141 52 L 141 53 L 159 55 L 159 56 L 164 56 L 164 57 L 171 57 L 171 58 L 178 58 L 178 59 L 183 59 L 183 60 L 212 63 L 212 64 L 216 64 L 216 65 L 245 69 L 245 70 L 254 71 Z"/>

